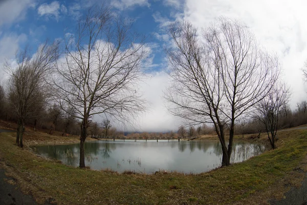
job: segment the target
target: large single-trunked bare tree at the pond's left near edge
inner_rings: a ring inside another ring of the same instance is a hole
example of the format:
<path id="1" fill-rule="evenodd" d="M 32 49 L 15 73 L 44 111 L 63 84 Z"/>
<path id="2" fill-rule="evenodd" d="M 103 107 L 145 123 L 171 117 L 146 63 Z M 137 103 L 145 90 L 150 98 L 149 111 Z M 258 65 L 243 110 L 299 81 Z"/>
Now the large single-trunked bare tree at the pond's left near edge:
<path id="1" fill-rule="evenodd" d="M 113 15 L 107 7 L 91 8 L 78 22 L 76 33 L 65 39 L 65 60 L 53 73 L 58 103 L 76 110 L 80 120 L 80 164 L 93 115 L 108 114 L 121 122 L 144 110 L 137 81 L 144 76 L 147 56 L 144 40 L 132 23 Z"/>

